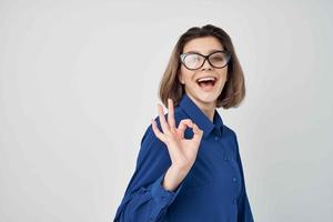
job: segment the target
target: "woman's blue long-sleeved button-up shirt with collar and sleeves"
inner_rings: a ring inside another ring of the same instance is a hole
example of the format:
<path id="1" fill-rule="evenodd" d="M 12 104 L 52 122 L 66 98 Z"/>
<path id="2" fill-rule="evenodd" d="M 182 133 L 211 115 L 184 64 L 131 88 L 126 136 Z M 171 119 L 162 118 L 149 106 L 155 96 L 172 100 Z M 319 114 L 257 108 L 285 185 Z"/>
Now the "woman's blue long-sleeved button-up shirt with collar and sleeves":
<path id="1" fill-rule="evenodd" d="M 176 125 L 191 119 L 203 130 L 194 164 L 176 190 L 165 190 L 162 180 L 171 159 L 150 124 L 113 222 L 252 222 L 235 132 L 216 110 L 210 121 L 185 93 L 174 108 L 174 119 Z M 191 139 L 192 129 L 184 137 Z"/>

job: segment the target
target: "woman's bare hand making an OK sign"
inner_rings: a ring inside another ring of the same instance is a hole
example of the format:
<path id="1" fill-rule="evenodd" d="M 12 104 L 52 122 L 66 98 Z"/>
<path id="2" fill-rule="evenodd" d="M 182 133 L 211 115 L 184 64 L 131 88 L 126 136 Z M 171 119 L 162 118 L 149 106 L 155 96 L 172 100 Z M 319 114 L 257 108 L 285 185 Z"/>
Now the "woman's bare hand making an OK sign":
<path id="1" fill-rule="evenodd" d="M 168 122 L 164 117 L 163 107 L 158 104 L 158 109 L 163 132 L 159 130 L 157 122 L 152 120 L 154 134 L 167 144 L 173 169 L 189 171 L 195 161 L 203 131 L 200 130 L 190 119 L 182 120 L 176 128 L 173 101 L 171 99 L 168 99 Z M 191 140 L 184 139 L 184 131 L 186 127 L 193 129 L 194 134 Z"/>

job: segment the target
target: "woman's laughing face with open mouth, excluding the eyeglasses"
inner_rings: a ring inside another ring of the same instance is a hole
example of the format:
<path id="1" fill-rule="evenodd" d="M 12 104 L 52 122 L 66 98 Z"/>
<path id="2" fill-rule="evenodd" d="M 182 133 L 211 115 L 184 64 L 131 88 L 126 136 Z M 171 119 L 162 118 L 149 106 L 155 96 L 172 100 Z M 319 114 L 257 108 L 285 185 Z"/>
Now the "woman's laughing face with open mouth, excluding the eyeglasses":
<path id="1" fill-rule="evenodd" d="M 223 50 L 223 46 L 214 37 L 201 37 L 186 42 L 182 53 L 199 52 L 208 56 L 213 51 Z M 186 94 L 203 107 L 214 107 L 226 80 L 228 65 L 222 69 L 212 67 L 208 60 L 198 70 L 189 70 L 181 64 L 179 80 L 184 84 Z M 215 78 L 214 83 L 202 82 L 202 78 Z"/>

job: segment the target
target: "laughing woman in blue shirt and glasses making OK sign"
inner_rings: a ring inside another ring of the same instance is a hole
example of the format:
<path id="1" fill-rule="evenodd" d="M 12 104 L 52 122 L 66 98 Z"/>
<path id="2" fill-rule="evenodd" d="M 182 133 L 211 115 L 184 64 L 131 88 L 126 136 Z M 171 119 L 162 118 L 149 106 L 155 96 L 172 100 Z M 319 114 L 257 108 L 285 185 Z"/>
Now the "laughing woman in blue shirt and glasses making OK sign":
<path id="1" fill-rule="evenodd" d="M 253 221 L 236 134 L 216 111 L 244 95 L 229 34 L 211 24 L 183 33 L 160 84 L 169 112 L 158 104 L 114 221 Z"/>

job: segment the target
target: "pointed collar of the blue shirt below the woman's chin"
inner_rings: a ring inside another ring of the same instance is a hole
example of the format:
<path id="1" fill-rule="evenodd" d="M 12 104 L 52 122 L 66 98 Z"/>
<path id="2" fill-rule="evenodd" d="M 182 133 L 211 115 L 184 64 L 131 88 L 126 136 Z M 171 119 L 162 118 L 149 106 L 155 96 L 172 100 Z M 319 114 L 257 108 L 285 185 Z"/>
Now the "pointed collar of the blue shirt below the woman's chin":
<path id="1" fill-rule="evenodd" d="M 203 113 L 200 108 L 191 100 L 191 98 L 183 93 L 179 105 L 185 111 L 185 113 L 192 119 L 192 121 L 203 130 L 203 137 L 206 138 L 211 131 L 215 128 L 219 134 L 223 133 L 223 121 L 219 112 L 215 109 L 213 122 Z"/>

